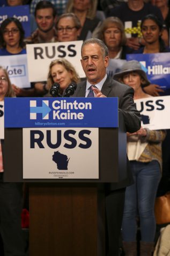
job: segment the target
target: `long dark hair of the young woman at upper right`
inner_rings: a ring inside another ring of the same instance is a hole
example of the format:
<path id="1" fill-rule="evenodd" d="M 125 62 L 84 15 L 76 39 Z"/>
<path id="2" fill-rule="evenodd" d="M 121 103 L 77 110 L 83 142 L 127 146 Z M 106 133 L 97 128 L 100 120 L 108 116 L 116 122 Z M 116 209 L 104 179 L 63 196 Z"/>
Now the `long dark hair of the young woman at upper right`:
<path id="1" fill-rule="evenodd" d="M 157 16 L 153 15 L 153 14 L 149 14 L 146 15 L 145 17 L 143 17 L 142 21 L 141 21 L 141 30 L 142 30 L 142 26 L 143 23 L 146 19 L 151 19 L 153 20 L 154 23 L 156 23 L 159 27 L 159 31 L 161 32 L 164 29 L 164 24 L 162 24 L 161 20 L 157 18 Z M 164 40 L 162 40 L 161 36 L 159 36 L 159 52 L 166 52 L 166 45 Z"/>

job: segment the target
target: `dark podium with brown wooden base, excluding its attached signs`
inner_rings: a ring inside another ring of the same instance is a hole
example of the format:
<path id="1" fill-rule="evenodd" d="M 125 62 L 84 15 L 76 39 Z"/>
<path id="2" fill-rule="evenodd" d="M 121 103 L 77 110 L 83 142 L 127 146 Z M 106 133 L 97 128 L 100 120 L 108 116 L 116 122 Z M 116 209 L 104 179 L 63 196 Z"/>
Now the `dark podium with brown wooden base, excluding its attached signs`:
<path id="1" fill-rule="evenodd" d="M 108 99 L 112 100 L 105 100 Z M 82 100 L 87 101 L 87 98 Z M 8 119 L 11 119 L 11 106 L 8 109 L 8 102 L 5 102 Z M 26 111 L 26 107 L 23 109 Z M 117 108 L 115 112 L 118 112 Z M 118 115 L 115 116 L 118 121 Z M 119 113 L 119 127 L 102 127 L 100 124 L 97 128 L 98 178 L 23 178 L 23 128 L 19 124 L 12 128 L 6 117 L 5 123 L 4 179 L 29 184 L 29 255 L 104 256 L 105 186 L 126 177 L 126 134 L 122 113 Z M 88 121 L 86 125 L 88 127 Z M 11 145 L 17 145 L 17 149 Z"/>

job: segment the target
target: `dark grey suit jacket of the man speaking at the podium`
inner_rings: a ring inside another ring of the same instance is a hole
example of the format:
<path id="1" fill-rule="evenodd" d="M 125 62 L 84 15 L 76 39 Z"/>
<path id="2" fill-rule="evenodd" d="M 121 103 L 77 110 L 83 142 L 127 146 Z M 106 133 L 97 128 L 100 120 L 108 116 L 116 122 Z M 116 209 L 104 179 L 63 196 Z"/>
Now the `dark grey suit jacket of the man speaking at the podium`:
<path id="1" fill-rule="evenodd" d="M 86 91 L 86 81 L 79 82 L 73 97 L 84 97 Z M 134 89 L 121 84 L 114 79 L 107 77 L 101 89 L 102 94 L 107 97 L 119 97 L 119 111 L 122 112 L 127 132 L 134 133 L 141 128 L 141 115 L 137 111 L 134 103 Z M 107 184 L 108 190 L 124 188 L 132 184 L 132 175 L 127 161 L 127 178 L 119 183 Z"/>

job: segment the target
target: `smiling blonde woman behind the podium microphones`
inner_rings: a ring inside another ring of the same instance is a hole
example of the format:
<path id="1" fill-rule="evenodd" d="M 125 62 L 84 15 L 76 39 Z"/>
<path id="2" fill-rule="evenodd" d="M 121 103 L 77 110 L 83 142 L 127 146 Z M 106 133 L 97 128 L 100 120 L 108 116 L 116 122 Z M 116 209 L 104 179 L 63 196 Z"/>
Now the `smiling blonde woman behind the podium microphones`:
<path id="1" fill-rule="evenodd" d="M 54 82 L 58 82 L 60 84 L 60 94 L 63 95 L 71 82 L 77 83 L 79 80 L 79 75 L 68 60 L 63 58 L 51 61 L 47 77 L 47 88 L 49 90 Z"/>

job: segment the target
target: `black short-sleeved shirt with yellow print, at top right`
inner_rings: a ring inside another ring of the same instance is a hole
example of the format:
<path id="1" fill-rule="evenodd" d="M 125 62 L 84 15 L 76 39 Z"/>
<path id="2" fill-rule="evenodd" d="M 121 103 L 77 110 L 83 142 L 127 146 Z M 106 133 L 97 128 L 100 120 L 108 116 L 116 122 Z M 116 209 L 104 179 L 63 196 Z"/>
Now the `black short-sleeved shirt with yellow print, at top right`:
<path id="1" fill-rule="evenodd" d="M 124 24 L 125 33 L 130 38 L 142 37 L 141 20 L 149 14 L 156 15 L 162 24 L 164 24 L 160 9 L 150 3 L 144 3 L 143 8 L 139 11 L 133 11 L 129 8 L 128 3 L 122 3 L 120 6 L 110 9 L 108 16 L 120 18 Z"/>

